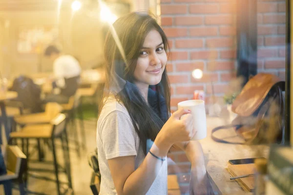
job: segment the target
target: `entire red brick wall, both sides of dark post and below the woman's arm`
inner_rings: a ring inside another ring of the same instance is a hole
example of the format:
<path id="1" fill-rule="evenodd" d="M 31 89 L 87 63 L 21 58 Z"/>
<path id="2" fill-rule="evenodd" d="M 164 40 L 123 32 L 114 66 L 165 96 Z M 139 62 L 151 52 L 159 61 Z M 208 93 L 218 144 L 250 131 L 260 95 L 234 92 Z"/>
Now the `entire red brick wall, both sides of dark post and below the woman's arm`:
<path id="1" fill-rule="evenodd" d="M 235 78 L 237 1 L 161 0 L 161 23 L 171 46 L 167 70 L 173 111 L 194 90 L 204 90 L 208 103 L 211 81 L 221 99 Z M 285 22 L 285 0 L 257 1 L 258 72 L 285 78 Z M 199 80 L 191 76 L 197 68 L 204 73 Z M 168 156 L 176 163 L 168 167 L 169 174 L 178 175 L 182 194 L 188 194 L 187 157 L 182 151 Z"/>

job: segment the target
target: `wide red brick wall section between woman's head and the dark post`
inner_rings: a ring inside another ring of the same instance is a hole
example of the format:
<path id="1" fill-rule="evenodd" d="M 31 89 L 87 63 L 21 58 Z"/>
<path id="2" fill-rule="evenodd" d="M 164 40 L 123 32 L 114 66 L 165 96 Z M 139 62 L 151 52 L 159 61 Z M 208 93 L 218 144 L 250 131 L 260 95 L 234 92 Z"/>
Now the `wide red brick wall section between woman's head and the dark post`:
<path id="1" fill-rule="evenodd" d="M 192 98 L 194 90 L 223 96 L 235 69 L 236 0 L 161 0 L 161 22 L 170 40 L 167 65 L 171 83 L 171 109 Z M 214 60 L 213 60 L 214 59 Z M 202 79 L 191 71 L 201 69 Z"/>

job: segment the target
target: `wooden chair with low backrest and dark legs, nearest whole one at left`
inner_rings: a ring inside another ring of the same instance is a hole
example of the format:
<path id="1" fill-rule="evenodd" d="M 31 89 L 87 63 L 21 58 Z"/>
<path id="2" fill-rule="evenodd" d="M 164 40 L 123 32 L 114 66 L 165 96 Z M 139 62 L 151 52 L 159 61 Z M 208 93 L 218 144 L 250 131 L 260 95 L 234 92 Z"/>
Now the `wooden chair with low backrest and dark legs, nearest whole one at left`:
<path id="1" fill-rule="evenodd" d="M 48 181 L 55 181 L 57 184 L 57 192 L 58 195 L 61 195 L 60 191 L 60 184 L 67 184 L 68 190 L 73 191 L 72 189 L 72 182 L 71 182 L 71 171 L 70 171 L 70 159 L 69 159 L 69 148 L 68 148 L 68 138 L 66 133 L 66 116 L 64 114 L 59 113 L 56 117 L 54 117 L 49 124 L 32 124 L 24 126 L 21 131 L 12 132 L 10 134 L 11 139 L 26 139 L 26 150 L 25 154 L 29 162 L 29 140 L 30 139 L 37 139 L 37 140 L 44 140 L 45 142 L 50 143 L 49 149 L 53 152 L 53 164 L 54 170 L 45 170 L 45 169 L 33 169 L 29 168 L 32 171 L 40 171 L 40 172 L 54 172 L 56 176 L 56 180 L 52 180 L 48 177 L 39 177 L 34 176 L 36 178 L 45 179 Z M 56 156 L 56 144 L 55 140 L 59 138 L 62 142 L 62 149 L 63 149 L 63 157 L 64 157 L 64 167 L 57 163 L 57 156 Z M 51 147 L 50 147 L 51 146 Z M 49 163 L 49 162 L 46 162 Z M 62 170 L 67 175 L 68 182 L 62 182 L 59 180 L 59 170 Z M 30 174 L 31 175 L 31 174 Z"/>

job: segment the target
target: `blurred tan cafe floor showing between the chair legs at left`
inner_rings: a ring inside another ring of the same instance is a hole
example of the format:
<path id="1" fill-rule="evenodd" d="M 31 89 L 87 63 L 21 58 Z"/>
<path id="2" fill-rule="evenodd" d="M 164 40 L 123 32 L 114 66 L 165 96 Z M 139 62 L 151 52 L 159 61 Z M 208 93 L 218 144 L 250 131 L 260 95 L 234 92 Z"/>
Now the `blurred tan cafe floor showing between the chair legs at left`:
<path id="1" fill-rule="evenodd" d="M 79 122 L 79 121 L 77 121 Z M 81 150 L 81 157 L 78 157 L 76 151 L 71 149 L 70 151 L 70 162 L 71 162 L 71 173 L 72 173 L 72 184 L 73 190 L 75 195 L 91 195 L 90 179 L 92 170 L 88 164 L 87 156 L 89 153 L 94 152 L 96 148 L 96 125 L 97 120 L 85 120 L 84 127 L 86 133 L 86 148 L 87 150 Z M 79 125 L 78 132 L 80 133 Z M 72 138 L 72 137 L 71 137 Z M 30 143 L 31 144 L 31 143 Z M 33 145 L 33 144 L 31 144 Z M 73 144 L 70 144 L 70 147 L 74 147 Z M 61 149 L 61 147 L 59 147 Z M 61 165 L 63 165 L 63 154 L 62 151 L 59 149 L 57 152 L 58 161 Z M 53 160 L 52 154 L 48 149 L 46 149 L 46 160 Z M 37 153 L 32 155 L 32 158 L 37 159 Z M 52 169 L 53 165 L 45 165 L 42 163 L 30 163 L 29 167 L 34 168 L 46 168 Z M 34 175 L 38 176 L 47 176 L 51 178 L 55 178 L 54 172 L 52 173 L 36 173 L 31 172 Z M 66 177 L 61 175 L 61 179 L 66 181 Z M 57 187 L 56 183 L 52 181 L 45 181 L 33 177 L 28 178 L 28 190 L 38 193 L 45 193 L 47 195 L 57 195 Z M 0 185 L 0 195 L 4 194 L 3 186 Z M 17 190 L 13 190 L 13 195 L 19 195 L 20 193 Z"/>

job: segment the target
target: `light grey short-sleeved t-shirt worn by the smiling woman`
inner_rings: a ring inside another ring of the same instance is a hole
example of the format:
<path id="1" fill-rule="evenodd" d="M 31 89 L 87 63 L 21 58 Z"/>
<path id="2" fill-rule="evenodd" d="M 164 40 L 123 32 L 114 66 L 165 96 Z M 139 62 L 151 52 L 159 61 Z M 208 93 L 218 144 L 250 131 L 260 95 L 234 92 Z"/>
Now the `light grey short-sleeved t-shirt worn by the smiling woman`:
<path id="1" fill-rule="evenodd" d="M 127 109 L 115 99 L 108 100 L 101 111 L 97 126 L 97 147 L 101 172 L 100 195 L 117 195 L 107 160 L 118 156 L 136 156 L 137 169 L 145 155 Z M 167 195 L 167 160 L 146 195 Z"/>

